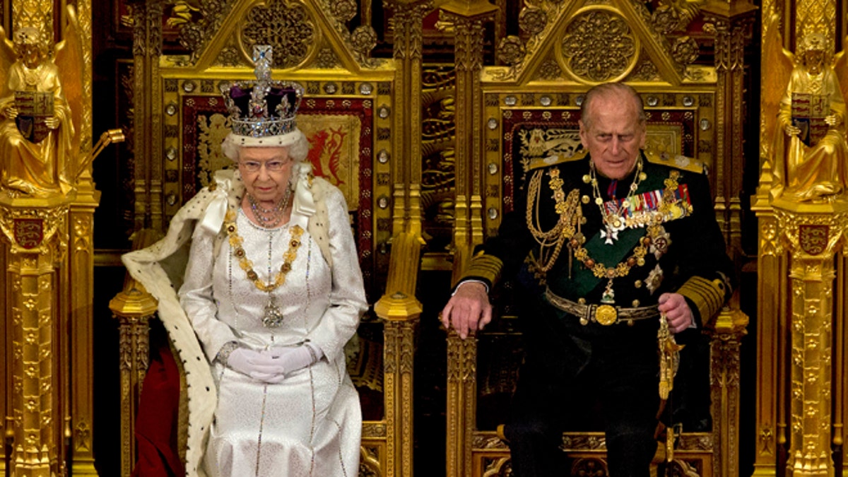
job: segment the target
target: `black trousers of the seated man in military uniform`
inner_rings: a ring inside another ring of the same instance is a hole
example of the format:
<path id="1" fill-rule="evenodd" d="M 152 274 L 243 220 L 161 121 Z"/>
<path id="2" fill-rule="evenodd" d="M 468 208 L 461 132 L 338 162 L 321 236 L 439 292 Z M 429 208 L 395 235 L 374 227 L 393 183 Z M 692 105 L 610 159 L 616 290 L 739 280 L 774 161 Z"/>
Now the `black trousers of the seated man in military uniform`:
<path id="1" fill-rule="evenodd" d="M 610 476 L 647 477 L 660 401 L 655 320 L 583 326 L 550 309 L 527 319 L 527 357 L 505 426 L 513 474 L 566 475 L 562 431 L 600 408 Z"/>

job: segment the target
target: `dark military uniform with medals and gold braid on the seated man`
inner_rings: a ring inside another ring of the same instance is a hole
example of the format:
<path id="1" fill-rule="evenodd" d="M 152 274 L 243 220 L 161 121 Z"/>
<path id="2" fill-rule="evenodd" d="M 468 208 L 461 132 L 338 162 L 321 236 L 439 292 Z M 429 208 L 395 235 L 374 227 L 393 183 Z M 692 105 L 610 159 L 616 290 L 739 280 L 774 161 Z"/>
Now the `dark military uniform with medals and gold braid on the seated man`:
<path id="1" fill-rule="evenodd" d="M 647 476 L 660 404 L 657 300 L 683 295 L 700 328 L 730 295 L 733 266 L 709 183 L 694 161 L 644 154 L 641 174 L 618 181 L 598 175 L 596 186 L 587 154 L 536 162 L 516 210 L 464 277 L 489 285 L 517 277 L 523 289 L 516 296 L 527 296 L 520 311 L 527 352 L 505 427 L 513 470 L 518 477 L 562 474 L 562 430 L 600 401 L 611 477 Z M 628 197 L 634 178 L 638 188 Z M 622 219 L 619 227 L 605 227 L 598 202 Z M 558 223 L 562 231 L 545 237 Z M 566 239 L 557 254 L 559 235 Z"/>

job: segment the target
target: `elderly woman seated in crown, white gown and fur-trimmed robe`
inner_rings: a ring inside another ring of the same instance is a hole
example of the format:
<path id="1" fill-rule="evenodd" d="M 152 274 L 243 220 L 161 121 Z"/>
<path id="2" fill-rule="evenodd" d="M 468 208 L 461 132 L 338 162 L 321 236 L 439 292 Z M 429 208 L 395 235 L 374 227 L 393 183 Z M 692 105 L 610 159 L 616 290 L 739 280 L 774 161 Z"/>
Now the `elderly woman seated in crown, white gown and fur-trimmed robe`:
<path id="1" fill-rule="evenodd" d="M 168 237 L 126 260 L 139 277 L 154 261 L 162 269 L 150 276 L 165 272 L 160 259 L 197 221 L 181 309 L 163 313 L 157 296 L 160 315 L 186 317 L 163 323 L 189 386 L 188 474 L 358 474 L 360 404 L 343 346 L 365 311 L 365 292 L 343 194 L 301 162 L 308 143 L 294 111 L 302 91 L 271 82 L 259 99 L 277 115 L 258 117 L 239 106 L 243 93 L 257 100 L 246 84 L 226 91 L 234 115 L 222 150 L 237 172 L 219 173 L 175 216 Z M 168 295 L 156 285 L 151 293 Z"/>

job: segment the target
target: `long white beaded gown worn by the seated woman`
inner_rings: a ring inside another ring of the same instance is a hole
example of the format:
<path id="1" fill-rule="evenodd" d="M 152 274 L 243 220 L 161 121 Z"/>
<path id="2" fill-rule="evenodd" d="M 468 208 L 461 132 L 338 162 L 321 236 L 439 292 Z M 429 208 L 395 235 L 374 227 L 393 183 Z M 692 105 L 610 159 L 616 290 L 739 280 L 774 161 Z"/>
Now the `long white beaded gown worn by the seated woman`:
<path id="1" fill-rule="evenodd" d="M 181 304 L 213 362 L 220 347 L 237 340 L 254 350 L 309 340 L 324 352 L 311 367 L 265 384 L 214 362 L 218 406 L 204 455 L 210 477 L 353 477 L 359 473 L 362 416 L 348 376 L 343 345 L 365 311 L 365 292 L 342 194 L 326 198 L 332 269 L 306 231 L 285 283 L 271 292 L 284 321 L 262 323 L 270 296 L 248 280 L 227 239 L 214 254 L 214 237 L 198 233 Z M 298 218 L 282 227 L 255 226 L 239 210 L 238 234 L 254 271 L 273 282 L 289 250 Z"/>

